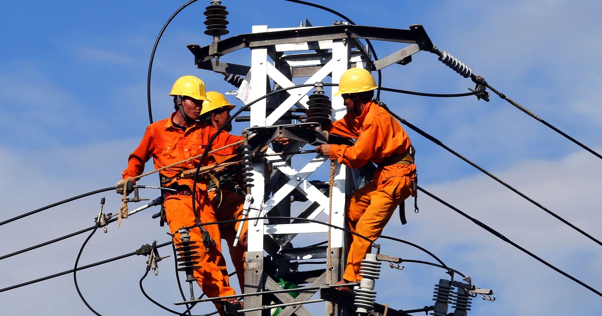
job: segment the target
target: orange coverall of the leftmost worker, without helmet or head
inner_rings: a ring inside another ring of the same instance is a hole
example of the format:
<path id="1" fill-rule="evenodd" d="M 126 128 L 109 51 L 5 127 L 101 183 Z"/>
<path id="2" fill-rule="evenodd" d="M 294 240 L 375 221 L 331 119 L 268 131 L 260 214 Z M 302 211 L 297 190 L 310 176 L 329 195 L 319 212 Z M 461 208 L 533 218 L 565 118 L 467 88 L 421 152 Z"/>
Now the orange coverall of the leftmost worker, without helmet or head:
<path id="1" fill-rule="evenodd" d="M 152 123 L 146 128 L 140 145 L 129 155 L 128 168 L 123 171 L 123 179 L 141 175 L 144 172 L 144 163 L 151 159 L 151 157 L 155 158 L 155 169 L 159 169 L 203 152 L 204 133 L 202 125 L 195 123 L 186 128 L 185 131 L 182 131 L 182 129 L 173 126 L 174 115 L 175 112 L 169 119 Z M 191 189 L 193 187 L 193 179 L 175 177 L 179 172 L 193 169 L 197 166 L 198 161 L 191 161 L 190 163 L 179 164 L 173 168 L 163 170 L 161 172 L 163 176 L 173 178 L 171 182 L 165 185 L 177 183 L 178 185 L 187 185 Z M 197 203 L 195 211 L 199 215 L 201 222 L 217 222 L 215 212 L 206 194 L 206 184 L 203 181 L 197 181 L 196 194 Z M 169 195 L 163 203 L 171 234 L 175 234 L 182 226 L 192 226 L 195 224 L 190 193 L 188 195 Z M 220 240 L 220 232 L 217 225 L 204 227 L 214 240 Z M 190 240 L 196 241 L 197 244 L 195 246 L 199 246 L 195 250 L 198 252 L 196 255 L 201 258 L 196 261 L 199 262 L 202 268 L 194 270 L 194 277 L 203 292 L 208 297 L 234 295 L 235 291 L 229 285 L 227 274 L 224 276 L 223 271 L 220 269 L 222 265 L 225 267 L 225 259 L 222 256 L 219 243 L 215 247 L 210 247 L 209 252 L 206 252 L 200 228 L 191 229 Z M 179 234 L 173 238 L 173 241 L 174 243 L 181 242 Z M 221 305 L 216 303 L 220 314 L 225 315 L 225 312 L 219 306 Z"/>

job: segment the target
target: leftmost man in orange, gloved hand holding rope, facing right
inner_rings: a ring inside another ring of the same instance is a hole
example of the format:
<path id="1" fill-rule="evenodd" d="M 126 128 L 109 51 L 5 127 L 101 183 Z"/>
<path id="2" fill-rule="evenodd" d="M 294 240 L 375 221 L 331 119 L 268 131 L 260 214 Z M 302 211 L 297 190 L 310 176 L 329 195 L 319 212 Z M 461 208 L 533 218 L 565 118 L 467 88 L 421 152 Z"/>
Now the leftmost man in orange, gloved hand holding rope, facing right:
<path id="1" fill-rule="evenodd" d="M 144 163 L 151 157 L 154 158 L 155 169 L 159 169 L 203 152 L 202 126 L 196 122 L 196 119 L 201 113 L 203 101 L 207 100 L 205 84 L 195 76 L 182 76 L 173 84 L 169 95 L 174 97 L 175 112 L 168 119 L 152 123 L 146 128 L 140 145 L 129 155 L 128 168 L 122 175 L 124 180 L 117 182 L 117 193 L 123 194 L 125 179 L 144 172 Z M 190 161 L 160 172 L 161 186 L 177 190 L 175 193 L 167 191 L 169 193 L 164 194 L 163 202 L 166 220 L 172 234 L 176 234 L 183 226 L 194 225 L 195 214 L 202 223 L 216 222 L 215 212 L 206 195 L 206 184 L 203 181 L 197 182 L 196 209 L 193 212 L 191 200 L 193 179 L 178 177 L 184 170 L 196 169 L 198 163 L 198 161 Z M 217 225 L 208 225 L 204 228 L 213 240 L 219 240 Z M 203 233 L 200 228 L 191 229 L 190 240 L 196 241 L 196 246 L 199 246 L 195 251 L 198 252 L 196 256 L 201 258 L 194 261 L 198 261 L 202 267 L 194 270 L 194 278 L 203 292 L 208 297 L 234 295 L 235 291 L 230 287 L 227 275 L 224 276 L 219 268 L 219 265 L 225 262 L 220 247 L 211 246 L 209 243 L 209 250 L 207 250 L 203 246 Z M 181 242 L 179 234 L 175 235 L 173 241 Z M 238 303 L 238 299 L 227 301 Z M 220 314 L 225 315 L 225 311 L 220 306 L 216 302 Z"/>

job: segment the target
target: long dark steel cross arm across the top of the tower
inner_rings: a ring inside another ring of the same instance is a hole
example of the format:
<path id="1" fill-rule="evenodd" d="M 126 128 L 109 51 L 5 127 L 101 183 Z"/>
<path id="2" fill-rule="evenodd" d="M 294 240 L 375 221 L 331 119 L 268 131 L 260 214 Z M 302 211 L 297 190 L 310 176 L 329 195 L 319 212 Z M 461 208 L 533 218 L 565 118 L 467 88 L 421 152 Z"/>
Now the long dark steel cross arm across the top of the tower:
<path id="1" fill-rule="evenodd" d="M 410 29 L 382 28 L 365 25 L 331 25 L 286 29 L 284 31 L 247 33 L 228 37 L 211 45 L 200 47 L 187 45 L 194 54 L 194 64 L 199 65 L 214 56 L 226 55 L 241 48 L 253 48 L 278 44 L 341 40 L 347 38 L 382 40 L 386 42 L 418 44 L 428 51 L 433 47 L 422 25 L 411 25 Z"/>

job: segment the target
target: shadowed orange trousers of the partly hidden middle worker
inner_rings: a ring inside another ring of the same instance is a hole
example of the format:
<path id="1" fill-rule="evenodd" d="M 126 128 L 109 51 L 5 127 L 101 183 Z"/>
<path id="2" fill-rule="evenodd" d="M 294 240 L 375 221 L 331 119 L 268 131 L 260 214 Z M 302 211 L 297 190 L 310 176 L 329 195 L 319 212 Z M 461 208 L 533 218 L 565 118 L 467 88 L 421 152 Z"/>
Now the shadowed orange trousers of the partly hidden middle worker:
<path id="1" fill-rule="evenodd" d="M 244 206 L 244 196 L 241 194 L 236 194 L 229 190 L 222 190 L 222 203 L 220 203 L 219 193 L 218 191 L 209 191 L 209 199 L 211 199 L 211 203 L 213 205 L 213 209 L 216 211 L 216 218 L 219 222 L 224 220 L 236 220 L 240 219 L 241 214 L 243 213 Z M 219 206 L 218 206 L 219 205 Z M 236 237 L 236 232 L 238 231 L 238 226 L 243 225 L 243 231 L 240 234 L 240 241 L 243 241 L 243 238 L 246 238 L 247 234 L 247 222 L 237 222 L 237 223 L 225 223 L 219 225 L 220 235 L 223 239 L 228 243 L 228 249 L 230 250 L 230 258 L 232 259 L 232 264 L 236 270 L 236 275 L 238 277 L 238 285 L 240 285 L 241 291 L 244 290 L 244 258 L 246 256 L 246 247 L 243 247 L 239 241 L 236 247 L 233 247 L 234 238 Z M 217 241 L 216 243 L 220 244 L 221 241 Z M 244 242 L 246 244 L 246 241 Z M 222 267 L 220 267 L 222 268 Z M 226 266 L 224 264 L 222 271 L 225 271 L 226 275 Z"/>

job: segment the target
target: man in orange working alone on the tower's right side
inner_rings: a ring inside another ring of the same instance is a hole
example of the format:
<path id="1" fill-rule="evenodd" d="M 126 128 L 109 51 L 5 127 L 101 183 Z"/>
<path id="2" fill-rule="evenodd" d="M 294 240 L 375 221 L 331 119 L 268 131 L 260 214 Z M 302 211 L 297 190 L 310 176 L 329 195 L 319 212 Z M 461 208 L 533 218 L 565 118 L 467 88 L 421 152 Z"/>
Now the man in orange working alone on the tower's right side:
<path id="1" fill-rule="evenodd" d="M 410 139 L 399 122 L 372 101 L 376 88 L 368 70 L 352 68 L 344 72 L 335 96 L 343 96 L 347 114 L 332 122 L 329 131 L 356 138 L 356 142 L 353 146 L 323 144 L 316 148 L 318 153 L 350 168 L 363 167 L 368 161 L 377 164 L 373 179 L 350 195 L 346 212 L 349 229 L 373 241 L 380 237 L 397 206 L 414 195 L 416 179 Z M 343 279 L 337 284 L 361 279 L 360 264 L 370 250 L 368 241 L 352 236 Z"/>

